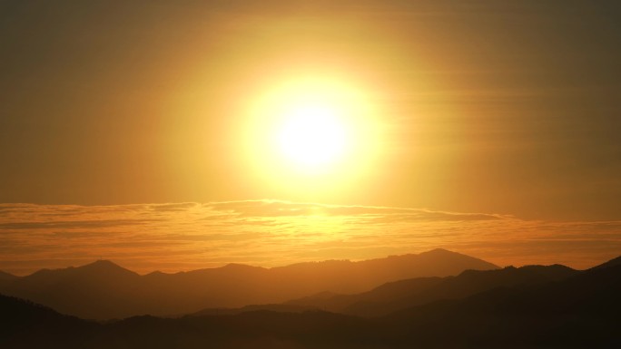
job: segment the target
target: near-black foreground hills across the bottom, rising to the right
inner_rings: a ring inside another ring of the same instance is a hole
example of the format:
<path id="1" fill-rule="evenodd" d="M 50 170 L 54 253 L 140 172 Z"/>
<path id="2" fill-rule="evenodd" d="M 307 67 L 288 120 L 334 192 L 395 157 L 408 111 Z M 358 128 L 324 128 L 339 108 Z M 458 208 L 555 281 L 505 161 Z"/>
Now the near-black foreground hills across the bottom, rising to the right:
<path id="1" fill-rule="evenodd" d="M 371 318 L 323 311 L 286 313 L 259 310 L 236 315 L 186 315 L 181 318 L 145 315 L 102 324 L 1 296 L 0 320 L 5 325 L 0 329 L 0 345 L 10 348 L 621 346 L 618 335 L 621 328 L 621 300 L 618 296 L 621 294 L 621 257 L 580 272 L 558 266 L 527 267 L 526 272 L 521 269 L 465 272 L 431 282 L 420 289 L 439 287 L 436 292 L 440 293 L 442 287 L 450 288 L 442 284 L 454 284 L 455 287 L 470 284 L 473 285 L 471 289 L 488 284 L 488 288 L 471 296 L 452 294 Z M 532 270 L 539 270 L 544 276 L 537 278 L 530 273 Z M 498 280 L 519 277 L 526 281 L 505 282 L 507 285 L 498 286 Z M 394 285 L 383 287 L 389 286 Z M 377 293 L 377 290 L 374 291 Z"/>

